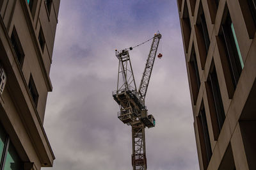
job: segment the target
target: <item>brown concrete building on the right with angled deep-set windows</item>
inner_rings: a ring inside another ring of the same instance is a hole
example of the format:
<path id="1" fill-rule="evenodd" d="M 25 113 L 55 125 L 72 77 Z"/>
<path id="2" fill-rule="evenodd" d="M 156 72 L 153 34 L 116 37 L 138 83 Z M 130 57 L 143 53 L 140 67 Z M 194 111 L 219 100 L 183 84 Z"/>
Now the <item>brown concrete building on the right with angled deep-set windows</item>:
<path id="1" fill-rule="evenodd" d="M 177 4 L 200 169 L 256 169 L 256 1 Z"/>

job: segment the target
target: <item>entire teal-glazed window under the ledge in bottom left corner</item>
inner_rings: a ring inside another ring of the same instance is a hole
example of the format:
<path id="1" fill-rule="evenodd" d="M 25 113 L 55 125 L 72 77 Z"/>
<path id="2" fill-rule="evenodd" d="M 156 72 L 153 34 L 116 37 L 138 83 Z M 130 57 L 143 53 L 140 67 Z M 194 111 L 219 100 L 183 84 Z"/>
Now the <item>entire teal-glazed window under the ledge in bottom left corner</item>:
<path id="1" fill-rule="evenodd" d="M 4 128 L 0 124 L 0 169 L 3 170 L 20 170 L 22 169 L 22 162 L 15 150 L 10 137 L 4 131 Z"/>

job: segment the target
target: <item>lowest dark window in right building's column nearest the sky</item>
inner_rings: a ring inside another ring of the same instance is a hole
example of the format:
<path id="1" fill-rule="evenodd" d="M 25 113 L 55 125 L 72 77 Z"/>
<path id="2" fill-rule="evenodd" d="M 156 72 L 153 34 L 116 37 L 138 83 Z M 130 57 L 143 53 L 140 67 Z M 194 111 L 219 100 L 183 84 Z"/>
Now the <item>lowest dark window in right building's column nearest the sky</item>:
<path id="1" fill-rule="evenodd" d="M 197 126 L 198 126 L 198 134 L 200 140 L 200 147 L 203 159 L 204 169 L 207 169 L 208 164 L 212 157 L 212 149 L 211 142 L 208 132 L 207 120 L 205 116 L 204 105 L 200 109 L 198 116 L 196 117 Z"/>

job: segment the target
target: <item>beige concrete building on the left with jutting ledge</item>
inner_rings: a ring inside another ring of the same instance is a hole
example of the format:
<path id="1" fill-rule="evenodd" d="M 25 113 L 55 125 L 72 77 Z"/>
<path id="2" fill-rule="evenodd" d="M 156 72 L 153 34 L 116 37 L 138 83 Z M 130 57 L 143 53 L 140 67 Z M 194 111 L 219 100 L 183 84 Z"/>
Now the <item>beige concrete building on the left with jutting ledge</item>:
<path id="1" fill-rule="evenodd" d="M 0 170 L 51 167 L 43 127 L 60 0 L 0 1 Z"/>

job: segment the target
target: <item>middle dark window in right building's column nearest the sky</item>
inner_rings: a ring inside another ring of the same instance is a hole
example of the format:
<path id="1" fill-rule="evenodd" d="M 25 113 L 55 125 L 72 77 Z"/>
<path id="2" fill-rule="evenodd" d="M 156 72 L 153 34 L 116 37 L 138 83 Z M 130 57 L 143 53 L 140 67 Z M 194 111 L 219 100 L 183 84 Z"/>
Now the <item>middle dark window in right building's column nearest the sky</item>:
<path id="1" fill-rule="evenodd" d="M 193 93 L 193 102 L 194 104 L 196 104 L 201 82 L 200 82 L 200 76 L 198 72 L 194 45 L 191 50 L 191 57 L 190 57 L 188 66 L 189 66 L 189 77 L 191 82 L 191 89 Z"/>

